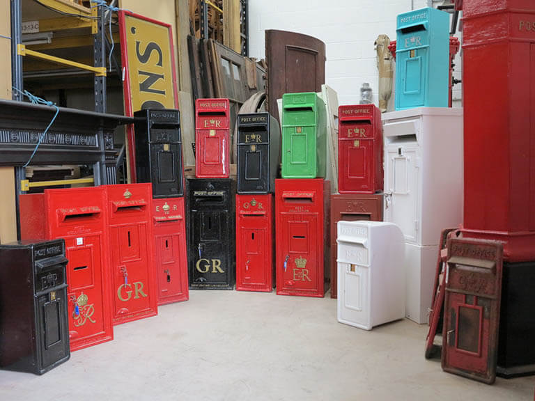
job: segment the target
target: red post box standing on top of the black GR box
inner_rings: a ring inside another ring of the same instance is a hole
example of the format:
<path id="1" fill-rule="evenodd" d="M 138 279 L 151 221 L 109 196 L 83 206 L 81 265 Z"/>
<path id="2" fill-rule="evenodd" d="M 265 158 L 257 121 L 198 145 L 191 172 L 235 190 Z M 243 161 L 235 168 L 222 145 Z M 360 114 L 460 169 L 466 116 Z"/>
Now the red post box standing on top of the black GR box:
<path id="1" fill-rule="evenodd" d="M 197 99 L 195 107 L 195 175 L 197 178 L 228 178 L 228 99 Z"/>

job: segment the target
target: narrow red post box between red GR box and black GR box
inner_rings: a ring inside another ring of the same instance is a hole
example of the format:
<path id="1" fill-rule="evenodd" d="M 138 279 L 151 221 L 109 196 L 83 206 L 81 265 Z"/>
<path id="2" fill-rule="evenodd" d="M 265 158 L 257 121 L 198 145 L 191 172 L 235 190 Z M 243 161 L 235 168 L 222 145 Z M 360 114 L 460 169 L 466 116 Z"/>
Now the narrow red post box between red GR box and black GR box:
<path id="1" fill-rule="evenodd" d="M 187 301 L 184 198 L 153 199 L 158 305 Z"/>

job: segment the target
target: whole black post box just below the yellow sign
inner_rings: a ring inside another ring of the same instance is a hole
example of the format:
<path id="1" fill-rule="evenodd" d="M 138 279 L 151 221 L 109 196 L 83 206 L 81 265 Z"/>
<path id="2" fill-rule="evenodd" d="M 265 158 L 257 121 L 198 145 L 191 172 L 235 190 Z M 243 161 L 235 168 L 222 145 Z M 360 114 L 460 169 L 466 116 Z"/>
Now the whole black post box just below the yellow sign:
<path id="1" fill-rule="evenodd" d="M 180 111 L 146 109 L 134 117 L 137 182 L 152 182 L 153 198 L 183 196 Z"/>

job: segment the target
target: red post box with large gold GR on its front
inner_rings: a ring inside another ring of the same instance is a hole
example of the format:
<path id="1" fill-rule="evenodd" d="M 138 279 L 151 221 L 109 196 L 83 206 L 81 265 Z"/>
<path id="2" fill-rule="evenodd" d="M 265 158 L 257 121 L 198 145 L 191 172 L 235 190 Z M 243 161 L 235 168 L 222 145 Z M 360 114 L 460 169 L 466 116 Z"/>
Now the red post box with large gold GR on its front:
<path id="1" fill-rule="evenodd" d="M 107 185 L 114 324 L 157 314 L 153 190 L 147 184 Z"/>

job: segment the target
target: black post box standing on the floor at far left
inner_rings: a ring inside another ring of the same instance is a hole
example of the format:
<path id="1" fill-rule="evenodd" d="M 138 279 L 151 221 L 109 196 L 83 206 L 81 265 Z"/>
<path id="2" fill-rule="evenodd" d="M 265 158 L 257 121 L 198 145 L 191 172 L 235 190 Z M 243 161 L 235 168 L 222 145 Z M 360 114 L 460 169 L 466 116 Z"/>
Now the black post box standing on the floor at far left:
<path id="1" fill-rule="evenodd" d="M 70 358 L 65 242 L 0 245 L 0 368 L 36 375 Z"/>

